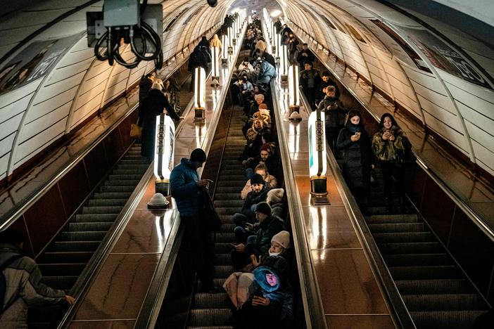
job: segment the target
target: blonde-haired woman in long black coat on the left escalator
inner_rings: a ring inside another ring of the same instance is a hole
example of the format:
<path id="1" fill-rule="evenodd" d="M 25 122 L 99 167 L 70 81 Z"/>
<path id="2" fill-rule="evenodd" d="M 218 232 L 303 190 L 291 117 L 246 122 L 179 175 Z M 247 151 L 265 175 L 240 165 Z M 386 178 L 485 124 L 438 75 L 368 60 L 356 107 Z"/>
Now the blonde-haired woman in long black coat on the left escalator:
<path id="1" fill-rule="evenodd" d="M 156 116 L 163 113 L 163 109 L 166 109 L 173 120 L 180 120 L 180 117 L 175 113 L 172 105 L 168 103 L 166 96 L 161 91 L 162 87 L 159 83 L 153 83 L 151 90 L 139 107 L 139 122 L 142 124 L 141 155 L 146 157 L 149 162 L 153 161 L 154 158 Z"/>

